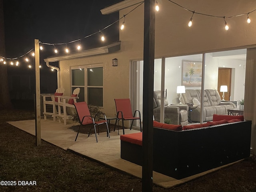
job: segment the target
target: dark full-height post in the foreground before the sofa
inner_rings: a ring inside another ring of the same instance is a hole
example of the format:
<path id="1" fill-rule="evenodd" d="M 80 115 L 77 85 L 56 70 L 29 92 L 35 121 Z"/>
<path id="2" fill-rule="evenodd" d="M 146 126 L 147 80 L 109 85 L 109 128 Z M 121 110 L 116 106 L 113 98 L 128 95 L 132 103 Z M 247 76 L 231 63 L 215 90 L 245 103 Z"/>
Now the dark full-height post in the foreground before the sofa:
<path id="1" fill-rule="evenodd" d="M 142 192 L 153 189 L 155 0 L 144 1 Z"/>

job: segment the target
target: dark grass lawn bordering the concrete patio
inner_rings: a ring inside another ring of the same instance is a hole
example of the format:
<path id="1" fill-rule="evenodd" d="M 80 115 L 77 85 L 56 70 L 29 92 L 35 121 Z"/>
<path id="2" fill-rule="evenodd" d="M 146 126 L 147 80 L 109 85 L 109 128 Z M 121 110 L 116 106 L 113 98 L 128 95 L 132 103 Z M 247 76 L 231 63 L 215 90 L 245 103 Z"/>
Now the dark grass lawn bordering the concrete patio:
<path id="1" fill-rule="evenodd" d="M 33 110 L 0 110 L 0 192 L 140 192 L 142 180 L 104 167 L 48 142 L 35 146 L 35 136 L 6 121 L 34 118 Z M 81 133 L 82 134 L 82 133 Z M 36 181 L 21 186 L 18 181 Z M 252 156 L 196 180 L 154 192 L 253 192 L 256 191 L 256 158 Z"/>

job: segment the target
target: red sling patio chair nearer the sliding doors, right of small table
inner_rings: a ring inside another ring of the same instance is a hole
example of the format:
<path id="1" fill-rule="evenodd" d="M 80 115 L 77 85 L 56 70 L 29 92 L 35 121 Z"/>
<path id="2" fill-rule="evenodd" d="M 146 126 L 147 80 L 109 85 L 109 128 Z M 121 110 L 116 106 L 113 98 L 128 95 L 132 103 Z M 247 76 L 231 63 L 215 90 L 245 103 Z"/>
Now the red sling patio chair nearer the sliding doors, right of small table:
<path id="1" fill-rule="evenodd" d="M 124 121 L 125 120 L 132 120 L 132 124 L 134 120 L 140 120 L 140 132 L 142 132 L 141 128 L 141 117 L 140 117 L 140 111 L 135 110 L 134 114 L 132 115 L 132 107 L 130 99 L 114 99 L 116 103 L 116 117 L 117 121 L 122 120 L 122 127 L 123 127 L 123 134 L 124 134 Z M 139 117 L 136 117 L 136 112 L 138 112 Z M 132 129 L 132 124 L 130 127 L 130 130 Z M 116 126 L 116 124 L 115 124 Z M 119 130 L 118 130 L 119 134 Z"/>

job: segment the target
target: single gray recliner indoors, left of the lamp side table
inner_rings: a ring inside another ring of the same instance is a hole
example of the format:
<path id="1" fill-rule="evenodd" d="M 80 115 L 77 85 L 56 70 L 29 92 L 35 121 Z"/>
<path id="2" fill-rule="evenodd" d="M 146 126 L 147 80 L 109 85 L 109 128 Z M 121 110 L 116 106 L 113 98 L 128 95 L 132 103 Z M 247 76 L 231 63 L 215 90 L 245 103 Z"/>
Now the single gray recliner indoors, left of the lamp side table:
<path id="1" fill-rule="evenodd" d="M 160 105 L 161 105 L 161 91 L 154 91 L 154 119 L 160 122 Z M 170 105 L 168 101 L 164 100 L 164 119 L 170 118 L 170 123 L 174 125 L 188 124 L 188 106 L 187 105 Z"/>

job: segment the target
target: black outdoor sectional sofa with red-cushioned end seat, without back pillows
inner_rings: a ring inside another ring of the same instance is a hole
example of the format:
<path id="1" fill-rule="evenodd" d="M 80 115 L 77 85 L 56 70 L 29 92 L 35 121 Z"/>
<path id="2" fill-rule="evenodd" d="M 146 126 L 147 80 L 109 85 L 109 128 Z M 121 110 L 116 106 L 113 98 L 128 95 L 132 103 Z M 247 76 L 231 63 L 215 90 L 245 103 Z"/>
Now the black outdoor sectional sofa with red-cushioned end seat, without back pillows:
<path id="1" fill-rule="evenodd" d="M 245 120 L 179 131 L 154 127 L 153 170 L 181 179 L 249 157 L 251 124 Z M 120 139 L 121 158 L 142 165 L 142 133 Z"/>

